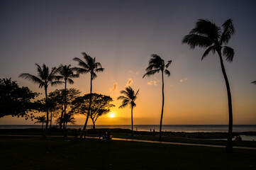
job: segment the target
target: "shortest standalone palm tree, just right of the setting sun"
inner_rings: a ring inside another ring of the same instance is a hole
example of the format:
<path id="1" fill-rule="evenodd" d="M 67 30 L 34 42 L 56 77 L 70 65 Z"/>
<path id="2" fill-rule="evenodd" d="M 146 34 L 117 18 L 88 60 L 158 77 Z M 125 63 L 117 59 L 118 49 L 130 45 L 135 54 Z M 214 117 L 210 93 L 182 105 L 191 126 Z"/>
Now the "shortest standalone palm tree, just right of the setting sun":
<path id="1" fill-rule="evenodd" d="M 119 96 L 117 99 L 119 100 L 123 100 L 122 101 L 122 105 L 119 106 L 119 108 L 124 108 L 128 105 L 130 105 L 131 108 L 131 122 L 132 122 L 132 137 L 133 137 L 133 108 L 136 106 L 135 104 L 135 100 L 138 97 L 138 92 L 140 89 L 138 89 L 138 91 L 135 93 L 135 91 L 133 91 L 133 89 L 128 86 L 126 87 L 125 91 L 120 91 L 121 94 L 124 94 L 124 96 Z"/>

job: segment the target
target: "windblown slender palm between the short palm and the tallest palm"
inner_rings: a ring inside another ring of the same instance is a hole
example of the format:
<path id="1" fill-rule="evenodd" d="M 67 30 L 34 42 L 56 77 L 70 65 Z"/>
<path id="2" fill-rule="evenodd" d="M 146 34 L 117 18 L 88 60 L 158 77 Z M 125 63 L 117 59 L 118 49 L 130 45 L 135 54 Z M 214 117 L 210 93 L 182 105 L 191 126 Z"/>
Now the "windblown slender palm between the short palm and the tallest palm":
<path id="1" fill-rule="evenodd" d="M 146 74 L 144 74 L 143 78 L 145 76 L 150 77 L 151 75 L 158 73 L 161 71 L 162 73 L 162 112 L 161 112 L 161 120 L 160 120 L 160 132 L 159 132 L 159 139 L 162 140 L 162 116 L 164 113 L 164 103 L 165 103 L 165 94 L 164 94 L 164 73 L 167 74 L 167 76 L 170 76 L 170 72 L 167 69 L 169 67 L 169 64 L 172 63 L 172 60 L 167 61 L 167 64 L 165 64 L 165 60 L 162 60 L 162 58 L 158 55 L 151 55 L 150 61 L 148 62 L 148 67 L 146 68 Z"/>

